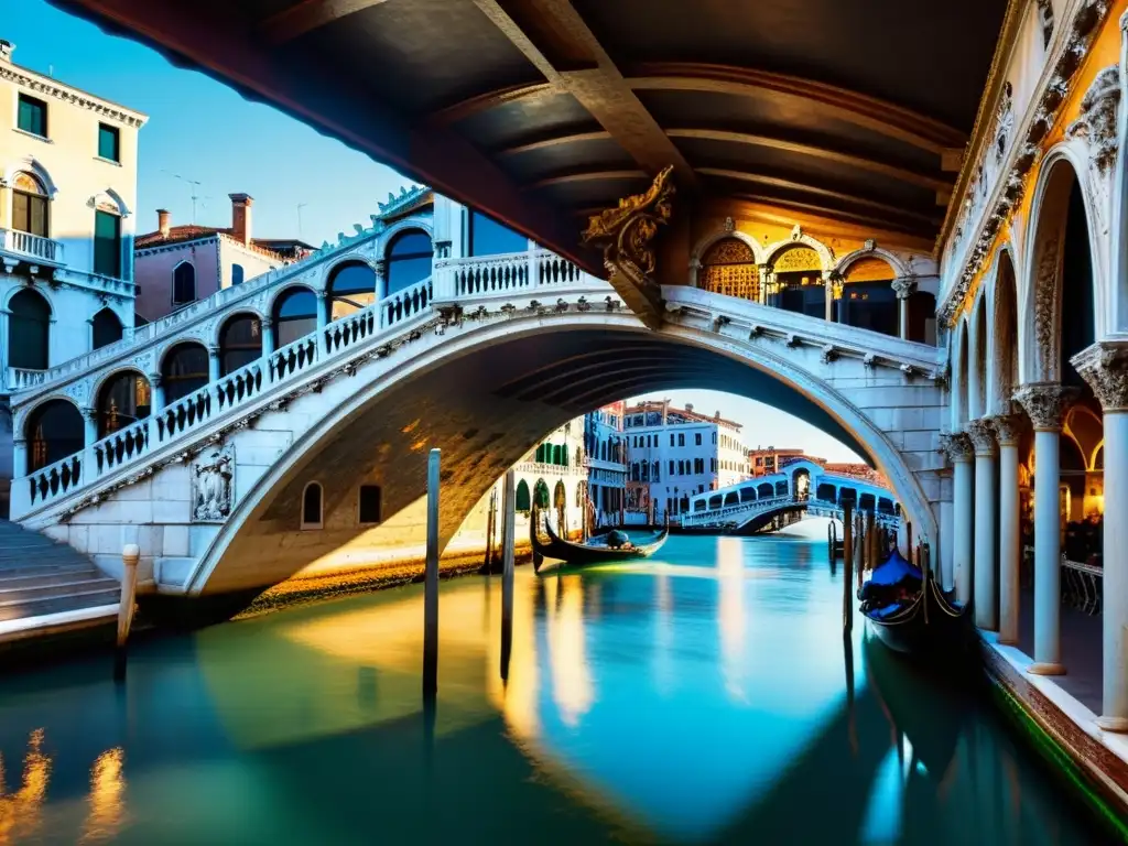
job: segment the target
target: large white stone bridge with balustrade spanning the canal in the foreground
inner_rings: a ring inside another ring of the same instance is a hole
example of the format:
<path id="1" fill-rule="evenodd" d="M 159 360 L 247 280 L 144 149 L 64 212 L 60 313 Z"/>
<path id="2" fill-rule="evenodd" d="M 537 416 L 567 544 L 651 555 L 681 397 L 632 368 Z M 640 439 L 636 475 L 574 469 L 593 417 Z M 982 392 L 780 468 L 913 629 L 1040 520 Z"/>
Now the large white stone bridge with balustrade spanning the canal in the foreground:
<path id="1" fill-rule="evenodd" d="M 661 289 L 664 320 L 647 329 L 607 282 L 545 250 L 437 258 L 431 277 L 338 320 L 323 315 L 281 349 L 264 341 L 261 358 L 219 376 L 226 320 L 268 325 L 275 298 L 324 284 L 347 255 L 323 249 L 36 374 L 14 399 L 12 519 L 113 575 L 135 540 L 149 593 L 235 599 L 358 540 L 404 543 L 430 448 L 443 450 L 446 545 L 545 432 L 624 396 L 696 387 L 840 438 L 937 538 L 940 350 L 684 285 Z M 211 350 L 212 378 L 165 404 L 161 362 L 186 341 Z M 151 411 L 98 440 L 97 397 L 122 373 L 151 374 Z M 85 442 L 29 473 L 29 430 L 60 403 L 86 411 Z M 377 522 L 361 522 L 362 486 L 377 491 Z"/>

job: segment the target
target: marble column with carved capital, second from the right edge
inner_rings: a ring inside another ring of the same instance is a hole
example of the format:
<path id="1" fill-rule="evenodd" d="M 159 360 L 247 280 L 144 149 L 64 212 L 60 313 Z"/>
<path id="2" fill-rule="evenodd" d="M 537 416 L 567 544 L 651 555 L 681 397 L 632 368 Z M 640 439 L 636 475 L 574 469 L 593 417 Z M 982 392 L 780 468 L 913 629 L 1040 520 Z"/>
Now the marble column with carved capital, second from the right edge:
<path id="1" fill-rule="evenodd" d="M 1061 526 L 1059 438 L 1067 391 L 1056 382 L 1022 386 L 1014 398 L 1034 425 L 1034 663 L 1030 672 L 1061 676 Z"/>

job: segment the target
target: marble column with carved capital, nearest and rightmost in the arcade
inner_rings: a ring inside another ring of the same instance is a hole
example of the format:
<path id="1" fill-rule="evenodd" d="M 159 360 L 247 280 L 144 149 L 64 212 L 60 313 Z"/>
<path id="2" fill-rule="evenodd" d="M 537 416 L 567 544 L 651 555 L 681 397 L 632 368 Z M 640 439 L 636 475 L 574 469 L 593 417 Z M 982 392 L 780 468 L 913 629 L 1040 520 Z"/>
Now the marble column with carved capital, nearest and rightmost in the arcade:
<path id="1" fill-rule="evenodd" d="M 1103 667 L 1096 724 L 1128 732 L 1128 338 L 1099 341 L 1072 363 L 1104 412 Z"/>

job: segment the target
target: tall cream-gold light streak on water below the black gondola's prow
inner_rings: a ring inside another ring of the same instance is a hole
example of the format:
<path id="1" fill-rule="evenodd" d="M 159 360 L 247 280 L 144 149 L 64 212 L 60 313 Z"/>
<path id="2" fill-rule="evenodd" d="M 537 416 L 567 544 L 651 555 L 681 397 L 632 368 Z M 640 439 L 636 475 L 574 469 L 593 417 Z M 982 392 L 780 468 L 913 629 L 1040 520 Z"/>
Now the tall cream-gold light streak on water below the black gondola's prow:
<path id="1" fill-rule="evenodd" d="M 583 580 L 559 579 L 556 602 L 548 611 L 548 659 L 553 675 L 553 700 L 565 725 L 578 725 L 594 694 L 584 641 Z M 552 607 L 556 606 L 555 613 Z"/>

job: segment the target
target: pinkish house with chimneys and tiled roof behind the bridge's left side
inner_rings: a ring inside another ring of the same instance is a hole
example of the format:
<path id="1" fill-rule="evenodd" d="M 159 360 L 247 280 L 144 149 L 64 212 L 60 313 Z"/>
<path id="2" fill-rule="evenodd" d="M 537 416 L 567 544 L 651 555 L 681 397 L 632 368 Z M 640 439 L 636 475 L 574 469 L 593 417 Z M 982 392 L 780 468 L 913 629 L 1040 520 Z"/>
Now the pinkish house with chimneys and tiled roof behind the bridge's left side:
<path id="1" fill-rule="evenodd" d="M 136 236 L 133 261 L 142 320 L 156 320 L 312 253 L 298 240 L 254 238 L 254 197 L 230 199 L 231 226 L 226 229 L 173 226 L 171 214 L 158 209 L 157 228 Z"/>

